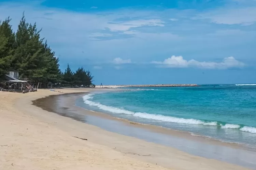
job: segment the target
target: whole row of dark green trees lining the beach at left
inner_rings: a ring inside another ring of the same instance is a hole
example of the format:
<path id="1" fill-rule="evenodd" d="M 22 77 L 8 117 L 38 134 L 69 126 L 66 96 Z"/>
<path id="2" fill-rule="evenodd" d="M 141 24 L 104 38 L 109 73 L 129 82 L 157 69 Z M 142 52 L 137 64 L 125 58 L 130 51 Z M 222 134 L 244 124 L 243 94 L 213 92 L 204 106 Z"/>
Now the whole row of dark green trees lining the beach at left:
<path id="1" fill-rule="evenodd" d="M 16 33 L 8 17 L 0 21 L 0 75 L 9 70 L 19 71 L 20 78 L 41 83 L 63 83 L 70 86 L 91 86 L 93 76 L 83 67 L 72 72 L 69 65 L 65 72 L 59 69 L 59 59 L 40 37 L 37 24 L 26 22 L 24 13 Z"/>

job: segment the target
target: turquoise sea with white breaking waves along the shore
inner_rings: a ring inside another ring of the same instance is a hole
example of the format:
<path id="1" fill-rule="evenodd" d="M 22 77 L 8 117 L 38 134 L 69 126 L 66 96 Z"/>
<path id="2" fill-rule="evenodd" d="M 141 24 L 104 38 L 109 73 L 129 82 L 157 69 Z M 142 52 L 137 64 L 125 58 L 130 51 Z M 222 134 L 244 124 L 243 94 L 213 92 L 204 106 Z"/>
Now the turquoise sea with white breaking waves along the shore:
<path id="1" fill-rule="evenodd" d="M 83 100 L 115 117 L 256 147 L 256 84 L 126 88 Z"/>

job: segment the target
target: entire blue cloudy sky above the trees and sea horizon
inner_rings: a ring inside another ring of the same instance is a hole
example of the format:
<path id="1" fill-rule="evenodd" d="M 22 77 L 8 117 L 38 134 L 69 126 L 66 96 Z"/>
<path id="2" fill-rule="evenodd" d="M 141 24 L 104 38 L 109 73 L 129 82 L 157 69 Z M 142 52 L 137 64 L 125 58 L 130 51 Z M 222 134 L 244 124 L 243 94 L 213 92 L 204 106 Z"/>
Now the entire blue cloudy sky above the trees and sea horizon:
<path id="1" fill-rule="evenodd" d="M 256 83 L 256 0 L 0 0 L 94 83 Z"/>

